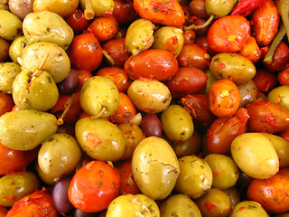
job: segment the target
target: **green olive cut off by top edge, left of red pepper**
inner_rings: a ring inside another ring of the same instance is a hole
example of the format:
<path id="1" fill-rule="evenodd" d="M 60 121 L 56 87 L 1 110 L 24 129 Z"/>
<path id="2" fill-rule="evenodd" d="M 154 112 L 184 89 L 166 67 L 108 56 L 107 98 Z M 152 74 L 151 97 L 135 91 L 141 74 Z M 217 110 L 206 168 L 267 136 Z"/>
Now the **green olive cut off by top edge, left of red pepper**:
<path id="1" fill-rule="evenodd" d="M 237 3 L 238 0 L 206 0 L 205 8 L 207 14 L 214 14 L 216 17 L 222 17 L 228 15 Z"/>

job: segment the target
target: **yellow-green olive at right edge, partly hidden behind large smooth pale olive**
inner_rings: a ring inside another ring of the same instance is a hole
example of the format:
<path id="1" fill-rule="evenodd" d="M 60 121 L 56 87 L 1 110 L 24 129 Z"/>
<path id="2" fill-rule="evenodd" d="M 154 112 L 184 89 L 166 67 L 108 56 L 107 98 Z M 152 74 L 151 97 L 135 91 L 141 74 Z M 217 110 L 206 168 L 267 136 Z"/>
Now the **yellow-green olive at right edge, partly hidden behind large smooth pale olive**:
<path id="1" fill-rule="evenodd" d="M 289 142 L 283 137 L 273 134 L 262 133 L 262 135 L 267 137 L 274 146 L 279 158 L 279 168 L 289 166 Z"/>

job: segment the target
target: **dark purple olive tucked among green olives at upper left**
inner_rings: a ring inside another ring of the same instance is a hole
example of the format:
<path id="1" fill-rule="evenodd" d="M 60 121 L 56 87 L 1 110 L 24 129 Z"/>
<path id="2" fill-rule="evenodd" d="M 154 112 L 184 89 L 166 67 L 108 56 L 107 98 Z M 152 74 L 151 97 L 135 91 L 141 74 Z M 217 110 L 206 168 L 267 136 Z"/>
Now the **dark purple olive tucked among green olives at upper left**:
<path id="1" fill-rule="evenodd" d="M 79 74 L 78 71 L 71 69 L 69 75 L 57 84 L 58 90 L 61 94 L 70 95 L 79 86 Z"/>

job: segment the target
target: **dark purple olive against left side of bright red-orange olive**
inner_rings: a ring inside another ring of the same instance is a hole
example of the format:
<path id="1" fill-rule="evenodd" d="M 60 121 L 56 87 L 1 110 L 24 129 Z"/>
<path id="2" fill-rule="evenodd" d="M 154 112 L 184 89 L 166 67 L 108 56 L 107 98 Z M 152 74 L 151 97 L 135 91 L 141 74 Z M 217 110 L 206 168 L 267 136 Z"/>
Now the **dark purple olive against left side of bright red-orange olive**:
<path id="1" fill-rule="evenodd" d="M 71 177 L 61 178 L 53 187 L 52 200 L 57 212 L 66 213 L 73 209 L 68 196 Z"/>

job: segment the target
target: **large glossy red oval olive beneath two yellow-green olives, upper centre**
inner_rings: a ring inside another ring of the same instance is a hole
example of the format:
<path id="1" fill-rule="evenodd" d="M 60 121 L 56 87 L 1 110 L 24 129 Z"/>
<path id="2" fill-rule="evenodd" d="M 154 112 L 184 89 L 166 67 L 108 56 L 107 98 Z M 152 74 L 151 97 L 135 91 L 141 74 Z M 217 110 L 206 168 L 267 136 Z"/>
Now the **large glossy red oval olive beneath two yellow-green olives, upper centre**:
<path id="1" fill-rule="evenodd" d="M 178 71 L 178 61 L 172 52 L 150 49 L 130 56 L 124 67 L 131 79 L 148 78 L 163 81 L 169 80 Z"/>

